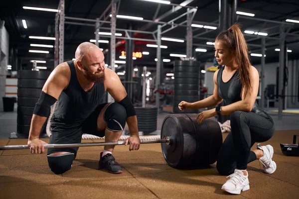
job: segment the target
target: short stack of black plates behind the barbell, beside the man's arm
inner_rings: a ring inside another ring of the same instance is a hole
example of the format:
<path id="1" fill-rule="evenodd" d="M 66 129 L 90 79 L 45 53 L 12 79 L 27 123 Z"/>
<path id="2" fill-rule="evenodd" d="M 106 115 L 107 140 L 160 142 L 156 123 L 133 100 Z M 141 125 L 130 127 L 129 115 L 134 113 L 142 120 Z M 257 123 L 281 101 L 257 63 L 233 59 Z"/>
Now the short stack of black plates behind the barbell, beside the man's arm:
<path id="1" fill-rule="evenodd" d="M 149 134 L 157 130 L 157 107 L 135 107 L 138 130 Z"/>

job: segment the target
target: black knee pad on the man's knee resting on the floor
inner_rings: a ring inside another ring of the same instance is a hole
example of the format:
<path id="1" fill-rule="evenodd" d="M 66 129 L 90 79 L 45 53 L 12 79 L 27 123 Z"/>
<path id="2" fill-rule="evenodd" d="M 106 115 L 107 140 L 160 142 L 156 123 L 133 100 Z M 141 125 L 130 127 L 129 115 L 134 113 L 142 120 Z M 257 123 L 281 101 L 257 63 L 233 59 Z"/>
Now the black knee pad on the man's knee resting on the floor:
<path id="1" fill-rule="evenodd" d="M 47 155 L 48 164 L 54 174 L 63 174 L 72 167 L 75 154 Z"/>

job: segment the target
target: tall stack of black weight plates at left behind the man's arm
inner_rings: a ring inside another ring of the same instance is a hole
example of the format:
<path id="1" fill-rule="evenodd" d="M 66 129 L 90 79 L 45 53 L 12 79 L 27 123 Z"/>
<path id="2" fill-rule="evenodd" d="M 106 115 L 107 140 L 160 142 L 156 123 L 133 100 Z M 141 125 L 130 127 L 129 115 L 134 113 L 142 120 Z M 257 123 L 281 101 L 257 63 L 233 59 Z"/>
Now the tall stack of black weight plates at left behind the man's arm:
<path id="1" fill-rule="evenodd" d="M 19 70 L 17 80 L 17 133 L 29 134 L 31 118 L 49 71 Z M 45 125 L 41 134 L 45 133 Z"/>

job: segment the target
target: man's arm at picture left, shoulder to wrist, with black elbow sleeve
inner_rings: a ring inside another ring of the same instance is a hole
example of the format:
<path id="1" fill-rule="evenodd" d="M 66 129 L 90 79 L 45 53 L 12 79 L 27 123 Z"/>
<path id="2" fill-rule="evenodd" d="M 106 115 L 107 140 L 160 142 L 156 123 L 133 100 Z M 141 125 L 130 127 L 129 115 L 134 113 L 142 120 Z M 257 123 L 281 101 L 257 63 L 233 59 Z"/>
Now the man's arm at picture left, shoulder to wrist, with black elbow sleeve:
<path id="1" fill-rule="evenodd" d="M 58 65 L 50 74 L 34 108 L 29 130 L 29 141 L 39 138 L 41 127 L 50 113 L 50 106 L 55 103 L 63 89 L 67 87 L 69 79 L 70 69 L 65 64 Z"/>

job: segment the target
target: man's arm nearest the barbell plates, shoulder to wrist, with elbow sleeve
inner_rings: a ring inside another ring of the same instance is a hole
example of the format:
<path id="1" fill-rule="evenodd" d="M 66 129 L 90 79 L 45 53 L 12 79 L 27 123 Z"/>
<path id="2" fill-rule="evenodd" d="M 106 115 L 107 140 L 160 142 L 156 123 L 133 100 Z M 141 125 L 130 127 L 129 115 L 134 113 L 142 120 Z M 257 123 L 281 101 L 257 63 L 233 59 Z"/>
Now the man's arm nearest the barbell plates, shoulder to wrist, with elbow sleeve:
<path id="1" fill-rule="evenodd" d="M 106 71 L 107 70 L 107 71 Z M 127 96 L 125 87 L 123 86 L 119 76 L 110 69 L 105 69 L 107 77 L 105 78 L 105 87 L 109 94 L 115 101 L 120 102 L 127 111 L 127 124 L 131 136 L 136 135 L 139 137 L 137 116 L 131 99 Z"/>

